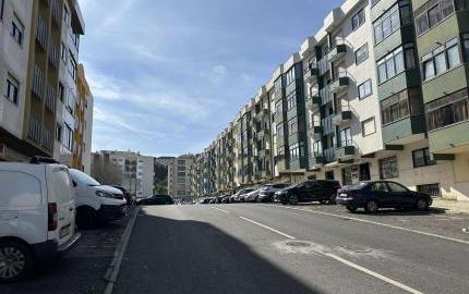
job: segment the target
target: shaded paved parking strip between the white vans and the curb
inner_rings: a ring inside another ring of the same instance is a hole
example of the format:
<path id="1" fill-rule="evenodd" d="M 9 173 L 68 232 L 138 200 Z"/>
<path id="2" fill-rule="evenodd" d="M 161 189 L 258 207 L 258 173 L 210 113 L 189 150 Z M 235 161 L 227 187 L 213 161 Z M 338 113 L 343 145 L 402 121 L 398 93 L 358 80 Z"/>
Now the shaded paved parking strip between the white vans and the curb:
<path id="1" fill-rule="evenodd" d="M 106 271 L 133 208 L 119 222 L 82 231 L 82 238 L 63 258 L 44 265 L 21 283 L 2 284 L 0 293 L 103 293 Z"/>

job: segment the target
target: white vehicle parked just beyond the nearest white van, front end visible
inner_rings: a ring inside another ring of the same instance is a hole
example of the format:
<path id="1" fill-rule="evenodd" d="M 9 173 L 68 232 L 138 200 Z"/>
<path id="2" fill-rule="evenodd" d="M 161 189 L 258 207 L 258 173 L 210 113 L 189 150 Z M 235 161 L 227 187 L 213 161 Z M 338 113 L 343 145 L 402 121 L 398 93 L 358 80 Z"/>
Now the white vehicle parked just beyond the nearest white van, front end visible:
<path id="1" fill-rule="evenodd" d="M 120 220 L 125 216 L 127 201 L 122 192 L 101 185 L 86 173 L 70 169 L 76 193 L 76 223 L 81 229 L 92 229 L 99 221 Z"/>

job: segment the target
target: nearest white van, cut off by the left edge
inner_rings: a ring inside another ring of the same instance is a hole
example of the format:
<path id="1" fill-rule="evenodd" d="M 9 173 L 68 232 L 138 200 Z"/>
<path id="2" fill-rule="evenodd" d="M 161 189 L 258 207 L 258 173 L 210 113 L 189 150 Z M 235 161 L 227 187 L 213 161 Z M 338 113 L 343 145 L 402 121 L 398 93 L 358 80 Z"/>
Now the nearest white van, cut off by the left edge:
<path id="1" fill-rule="evenodd" d="M 0 282 L 26 277 L 79 238 L 67 167 L 0 162 Z"/>

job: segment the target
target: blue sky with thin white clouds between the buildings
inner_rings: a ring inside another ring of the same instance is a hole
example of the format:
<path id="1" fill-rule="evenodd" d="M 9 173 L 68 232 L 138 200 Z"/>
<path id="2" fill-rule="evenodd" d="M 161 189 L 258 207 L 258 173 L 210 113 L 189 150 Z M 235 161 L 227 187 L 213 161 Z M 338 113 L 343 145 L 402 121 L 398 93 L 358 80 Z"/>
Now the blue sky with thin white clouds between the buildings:
<path id="1" fill-rule="evenodd" d="M 79 0 L 93 150 L 196 154 L 342 0 Z"/>

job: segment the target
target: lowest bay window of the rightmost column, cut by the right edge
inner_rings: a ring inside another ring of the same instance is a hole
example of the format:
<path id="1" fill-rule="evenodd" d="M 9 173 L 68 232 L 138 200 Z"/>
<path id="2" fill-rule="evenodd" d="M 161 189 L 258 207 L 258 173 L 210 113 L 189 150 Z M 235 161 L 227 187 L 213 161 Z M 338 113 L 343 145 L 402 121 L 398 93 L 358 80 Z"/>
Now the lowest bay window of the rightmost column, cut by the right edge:
<path id="1" fill-rule="evenodd" d="M 468 90 L 462 89 L 426 105 L 429 131 L 469 120 Z"/>

